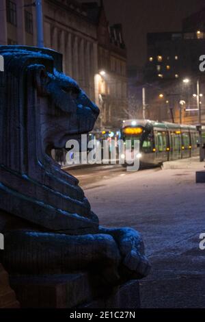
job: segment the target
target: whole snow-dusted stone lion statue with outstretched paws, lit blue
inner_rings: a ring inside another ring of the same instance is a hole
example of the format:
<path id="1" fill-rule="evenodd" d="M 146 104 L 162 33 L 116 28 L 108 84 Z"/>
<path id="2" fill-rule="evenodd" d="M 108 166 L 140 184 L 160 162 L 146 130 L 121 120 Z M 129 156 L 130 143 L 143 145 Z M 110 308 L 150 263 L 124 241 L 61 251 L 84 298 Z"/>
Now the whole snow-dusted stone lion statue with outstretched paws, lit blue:
<path id="1" fill-rule="evenodd" d="M 110 284 L 148 275 L 139 233 L 100 227 L 78 180 L 51 158 L 92 130 L 98 107 L 62 73 L 61 54 L 0 46 L 0 55 L 0 262 L 31 275 L 94 269 Z"/>

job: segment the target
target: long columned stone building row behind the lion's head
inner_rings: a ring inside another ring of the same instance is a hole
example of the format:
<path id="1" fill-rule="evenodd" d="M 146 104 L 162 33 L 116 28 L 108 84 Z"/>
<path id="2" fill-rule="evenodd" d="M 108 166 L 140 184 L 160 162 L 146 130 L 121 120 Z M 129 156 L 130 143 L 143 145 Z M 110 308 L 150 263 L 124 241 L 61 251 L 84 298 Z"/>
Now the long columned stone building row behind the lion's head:
<path id="1" fill-rule="evenodd" d="M 97 127 L 118 127 L 127 106 L 121 25 L 109 26 L 103 4 L 43 0 L 44 45 L 64 55 L 64 72 L 101 110 Z M 0 1 L 0 45 L 36 45 L 33 0 Z"/>

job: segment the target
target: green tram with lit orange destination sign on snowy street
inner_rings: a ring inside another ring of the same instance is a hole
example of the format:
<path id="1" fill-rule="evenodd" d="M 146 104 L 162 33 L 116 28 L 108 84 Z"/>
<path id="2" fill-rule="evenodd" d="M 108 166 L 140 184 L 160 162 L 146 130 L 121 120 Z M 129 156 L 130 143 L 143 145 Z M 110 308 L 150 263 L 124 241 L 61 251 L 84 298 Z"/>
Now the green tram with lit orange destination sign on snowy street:
<path id="1" fill-rule="evenodd" d="M 204 144 L 205 129 L 202 129 L 202 139 Z M 132 149 L 134 140 L 139 140 L 140 151 L 135 157 L 140 158 L 141 165 L 159 165 L 165 161 L 198 156 L 200 153 L 199 132 L 193 125 L 127 120 L 122 125 L 122 140 L 124 144 L 126 140 L 132 140 Z M 125 164 L 129 162 L 125 160 Z"/>

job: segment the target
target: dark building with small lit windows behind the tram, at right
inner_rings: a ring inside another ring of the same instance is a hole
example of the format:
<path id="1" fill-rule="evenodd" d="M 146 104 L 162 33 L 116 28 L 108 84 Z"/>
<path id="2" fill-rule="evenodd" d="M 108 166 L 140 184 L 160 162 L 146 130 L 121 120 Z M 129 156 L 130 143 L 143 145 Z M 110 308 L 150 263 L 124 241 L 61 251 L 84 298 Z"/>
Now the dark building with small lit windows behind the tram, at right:
<path id="1" fill-rule="evenodd" d="M 200 72 L 200 55 L 205 53 L 205 34 L 200 29 L 187 32 L 148 34 L 148 62 L 145 69 L 148 112 L 152 119 L 179 123 L 199 123 L 197 80 L 205 124 L 205 77 Z M 189 79 L 189 82 L 183 82 Z"/>

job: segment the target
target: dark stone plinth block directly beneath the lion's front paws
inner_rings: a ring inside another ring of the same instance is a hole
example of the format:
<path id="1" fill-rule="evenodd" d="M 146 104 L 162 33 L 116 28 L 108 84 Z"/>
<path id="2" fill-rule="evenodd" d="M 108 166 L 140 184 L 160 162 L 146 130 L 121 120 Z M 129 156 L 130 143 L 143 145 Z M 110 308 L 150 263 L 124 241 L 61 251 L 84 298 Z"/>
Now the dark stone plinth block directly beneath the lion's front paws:
<path id="1" fill-rule="evenodd" d="M 22 308 L 139 308 L 139 283 L 107 288 L 87 273 L 12 277 Z M 126 299 L 126 301 L 125 301 Z"/>

